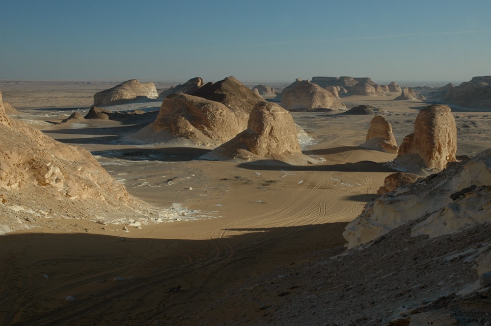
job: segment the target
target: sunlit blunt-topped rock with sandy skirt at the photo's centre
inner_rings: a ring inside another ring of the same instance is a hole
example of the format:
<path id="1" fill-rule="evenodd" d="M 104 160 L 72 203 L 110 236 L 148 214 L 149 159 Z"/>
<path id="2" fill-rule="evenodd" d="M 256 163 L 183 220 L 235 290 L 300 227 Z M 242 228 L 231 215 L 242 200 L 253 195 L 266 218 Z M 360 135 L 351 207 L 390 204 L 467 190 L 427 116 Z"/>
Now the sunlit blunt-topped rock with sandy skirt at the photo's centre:
<path id="1" fill-rule="evenodd" d="M 247 129 L 213 150 L 209 158 L 270 158 L 290 164 L 314 162 L 301 153 L 297 127 L 290 113 L 272 102 L 256 103 Z"/>

